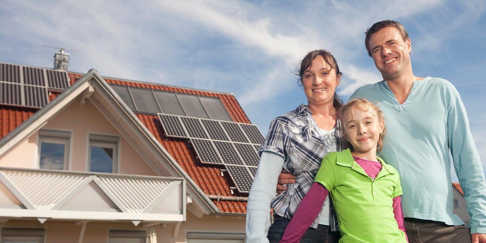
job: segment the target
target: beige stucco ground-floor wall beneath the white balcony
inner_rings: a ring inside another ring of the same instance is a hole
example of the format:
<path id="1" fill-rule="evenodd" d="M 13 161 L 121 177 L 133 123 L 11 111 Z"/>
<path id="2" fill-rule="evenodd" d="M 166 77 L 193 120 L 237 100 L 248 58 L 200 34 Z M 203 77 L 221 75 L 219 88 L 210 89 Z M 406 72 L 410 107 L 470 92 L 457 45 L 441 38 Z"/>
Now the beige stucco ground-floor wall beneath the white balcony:
<path id="1" fill-rule="evenodd" d="M 76 222 L 67 221 L 46 221 L 40 224 L 37 220 L 10 220 L 3 228 L 44 228 L 45 242 L 66 243 L 78 242 L 81 225 Z M 175 223 L 153 226 L 157 234 L 158 243 L 187 243 L 188 232 L 210 232 L 210 233 L 244 233 L 245 218 L 238 216 L 214 216 L 206 215 L 198 218 L 188 212 L 187 221 L 180 226 L 177 236 L 174 238 Z M 89 222 L 83 243 L 108 243 L 110 230 L 145 230 L 149 227 L 141 225 L 134 226 L 132 223 L 107 223 Z"/>

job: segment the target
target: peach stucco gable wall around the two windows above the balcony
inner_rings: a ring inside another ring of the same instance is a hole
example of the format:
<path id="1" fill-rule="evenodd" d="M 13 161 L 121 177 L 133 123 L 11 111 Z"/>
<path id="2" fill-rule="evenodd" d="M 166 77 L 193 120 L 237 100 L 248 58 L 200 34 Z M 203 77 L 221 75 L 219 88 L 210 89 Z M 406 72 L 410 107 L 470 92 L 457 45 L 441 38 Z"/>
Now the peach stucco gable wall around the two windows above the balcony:
<path id="1" fill-rule="evenodd" d="M 103 114 L 89 101 L 73 102 L 53 117 L 43 129 L 70 131 L 72 133 L 69 170 L 87 171 L 89 133 L 120 136 Z M 120 136 L 119 167 L 121 174 L 156 175 L 130 144 Z M 31 168 L 39 167 L 38 133 L 20 142 L 0 158 L 0 166 Z"/>

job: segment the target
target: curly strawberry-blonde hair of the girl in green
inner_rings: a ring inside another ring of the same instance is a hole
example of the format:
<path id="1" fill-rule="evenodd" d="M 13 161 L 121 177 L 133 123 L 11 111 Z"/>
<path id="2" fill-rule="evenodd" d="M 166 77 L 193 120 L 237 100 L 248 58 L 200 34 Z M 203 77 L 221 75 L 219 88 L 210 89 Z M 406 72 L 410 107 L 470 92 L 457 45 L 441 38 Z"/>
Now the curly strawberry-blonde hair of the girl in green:
<path id="1" fill-rule="evenodd" d="M 369 111 L 371 114 L 378 117 L 378 121 L 383 122 L 385 118 L 383 117 L 383 112 L 376 106 L 375 104 L 371 103 L 366 99 L 354 99 L 347 102 L 347 104 L 343 105 L 343 107 L 339 110 L 338 116 L 341 122 L 344 124 L 346 122 L 347 116 L 349 116 L 349 111 L 351 108 L 358 108 L 361 111 Z M 346 136 L 345 129 L 341 131 L 344 136 Z M 386 134 L 386 126 L 383 125 L 383 132 L 380 134 L 380 138 L 378 139 L 378 145 L 376 147 L 376 151 L 382 151 L 383 148 L 383 138 Z M 347 136 L 346 136 L 347 137 Z M 347 142 L 347 147 L 351 150 L 353 146 L 351 143 Z M 346 145 L 346 144 L 345 144 Z"/>

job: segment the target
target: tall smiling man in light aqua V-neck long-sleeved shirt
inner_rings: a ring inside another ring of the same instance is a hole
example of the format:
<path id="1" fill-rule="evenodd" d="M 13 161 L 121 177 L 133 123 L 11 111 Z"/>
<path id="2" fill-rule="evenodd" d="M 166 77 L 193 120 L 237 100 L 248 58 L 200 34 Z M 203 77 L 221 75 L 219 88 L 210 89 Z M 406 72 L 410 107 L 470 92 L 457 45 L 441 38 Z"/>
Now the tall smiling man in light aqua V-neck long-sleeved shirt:
<path id="1" fill-rule="evenodd" d="M 399 22 L 377 22 L 365 35 L 383 81 L 358 88 L 350 99 L 378 102 L 384 113 L 388 133 L 380 154 L 400 173 L 409 242 L 486 243 L 484 172 L 459 93 L 447 80 L 413 74 L 411 41 Z M 452 213 L 449 150 L 470 230 Z"/>

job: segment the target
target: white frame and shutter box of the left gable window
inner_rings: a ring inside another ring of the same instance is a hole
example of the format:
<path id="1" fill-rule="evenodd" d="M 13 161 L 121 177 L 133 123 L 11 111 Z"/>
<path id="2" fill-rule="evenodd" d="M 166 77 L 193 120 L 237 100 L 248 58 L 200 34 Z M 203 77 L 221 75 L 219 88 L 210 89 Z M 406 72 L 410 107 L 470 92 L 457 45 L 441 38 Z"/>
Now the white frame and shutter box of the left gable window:
<path id="1" fill-rule="evenodd" d="M 69 170 L 69 152 L 70 152 L 70 141 L 71 141 L 71 132 L 67 131 L 57 131 L 57 130 L 39 130 L 39 139 L 38 139 L 38 168 L 39 169 L 46 169 L 40 167 L 40 157 L 42 152 L 42 143 L 54 143 L 54 144 L 63 144 L 64 145 L 64 161 L 63 161 L 63 169 L 62 170 Z M 49 169 L 49 168 L 47 168 Z"/>

